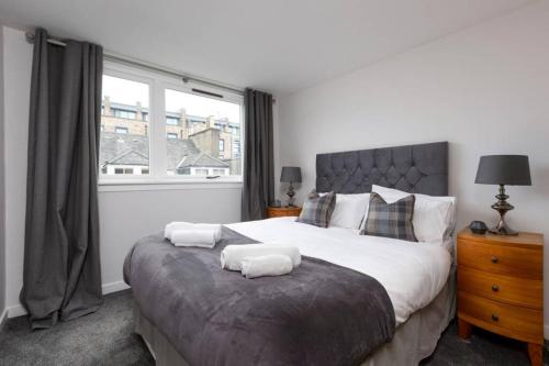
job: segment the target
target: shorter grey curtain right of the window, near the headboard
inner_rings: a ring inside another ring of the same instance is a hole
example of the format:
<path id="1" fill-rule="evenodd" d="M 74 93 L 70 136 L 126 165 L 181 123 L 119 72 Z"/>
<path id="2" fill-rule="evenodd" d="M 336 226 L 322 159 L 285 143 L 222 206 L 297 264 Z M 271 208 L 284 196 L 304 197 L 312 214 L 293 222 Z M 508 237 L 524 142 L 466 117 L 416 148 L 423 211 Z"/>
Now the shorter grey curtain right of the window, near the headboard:
<path id="1" fill-rule="evenodd" d="M 265 218 L 274 199 L 274 160 L 272 141 L 272 96 L 246 89 L 245 154 L 242 220 Z"/>

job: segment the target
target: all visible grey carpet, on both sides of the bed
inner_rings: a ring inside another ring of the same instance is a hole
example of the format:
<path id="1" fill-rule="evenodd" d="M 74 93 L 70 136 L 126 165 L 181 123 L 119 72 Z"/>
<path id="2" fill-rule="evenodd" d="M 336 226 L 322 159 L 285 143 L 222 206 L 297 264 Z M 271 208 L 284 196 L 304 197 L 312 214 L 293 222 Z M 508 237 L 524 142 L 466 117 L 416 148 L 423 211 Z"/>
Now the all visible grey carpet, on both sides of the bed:
<path id="1" fill-rule="evenodd" d="M 547 359 L 547 357 L 546 357 Z M 0 365 L 154 365 L 133 332 L 132 292 L 105 296 L 97 313 L 30 331 L 25 317 L 10 319 L 0 332 Z M 475 330 L 470 342 L 452 323 L 425 366 L 529 365 L 524 344 Z"/>

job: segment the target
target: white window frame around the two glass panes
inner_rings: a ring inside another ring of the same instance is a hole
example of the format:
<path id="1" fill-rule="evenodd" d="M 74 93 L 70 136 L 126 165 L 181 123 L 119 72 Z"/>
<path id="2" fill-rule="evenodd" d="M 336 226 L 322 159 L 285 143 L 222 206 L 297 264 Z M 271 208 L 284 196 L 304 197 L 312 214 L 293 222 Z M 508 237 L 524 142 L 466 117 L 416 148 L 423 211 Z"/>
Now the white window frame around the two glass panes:
<path id="1" fill-rule="evenodd" d="M 222 101 L 233 102 L 240 107 L 240 167 L 244 168 L 244 131 L 245 131 L 245 118 L 244 118 L 244 96 L 231 92 L 224 89 L 217 89 L 212 87 L 206 87 L 198 82 L 187 82 L 183 84 L 182 80 L 178 79 L 176 76 L 170 76 L 167 74 L 155 73 L 145 68 L 139 68 L 136 66 L 128 66 L 125 64 L 114 63 L 111 60 L 104 60 L 103 63 L 103 75 L 123 78 L 136 82 L 147 84 L 149 87 L 149 107 L 148 107 L 148 137 L 149 137 L 149 174 L 148 175 L 104 175 L 99 176 L 100 191 L 120 191 L 135 190 L 132 186 L 147 186 L 144 190 L 154 189 L 167 189 L 166 185 L 172 186 L 168 189 L 179 189 L 186 188 L 198 188 L 202 185 L 214 188 L 237 188 L 242 187 L 243 176 L 226 175 L 221 176 L 215 179 L 208 179 L 206 176 L 184 176 L 184 175 L 168 175 L 167 173 L 167 123 L 166 123 L 166 110 L 165 110 L 165 90 L 171 89 L 176 91 L 181 91 L 186 93 L 195 95 L 204 98 L 217 99 L 214 97 L 208 97 L 202 93 L 192 91 L 192 89 L 200 89 L 204 91 L 210 91 L 213 93 L 223 95 Z M 240 170 L 242 170 L 240 169 Z M 119 187 L 116 187 L 119 186 Z M 114 188 L 109 188 L 114 187 Z"/>

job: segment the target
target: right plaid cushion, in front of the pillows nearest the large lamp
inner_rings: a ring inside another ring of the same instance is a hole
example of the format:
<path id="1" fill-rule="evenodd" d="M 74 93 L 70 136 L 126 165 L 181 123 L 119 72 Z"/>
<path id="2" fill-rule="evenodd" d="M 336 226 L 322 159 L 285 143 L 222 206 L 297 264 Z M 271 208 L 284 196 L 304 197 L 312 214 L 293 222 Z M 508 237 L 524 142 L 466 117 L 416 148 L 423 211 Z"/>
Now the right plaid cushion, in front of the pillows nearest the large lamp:
<path id="1" fill-rule="evenodd" d="M 366 225 L 360 234 L 417 242 L 412 224 L 414 203 L 414 195 L 386 203 L 381 196 L 372 192 Z"/>

